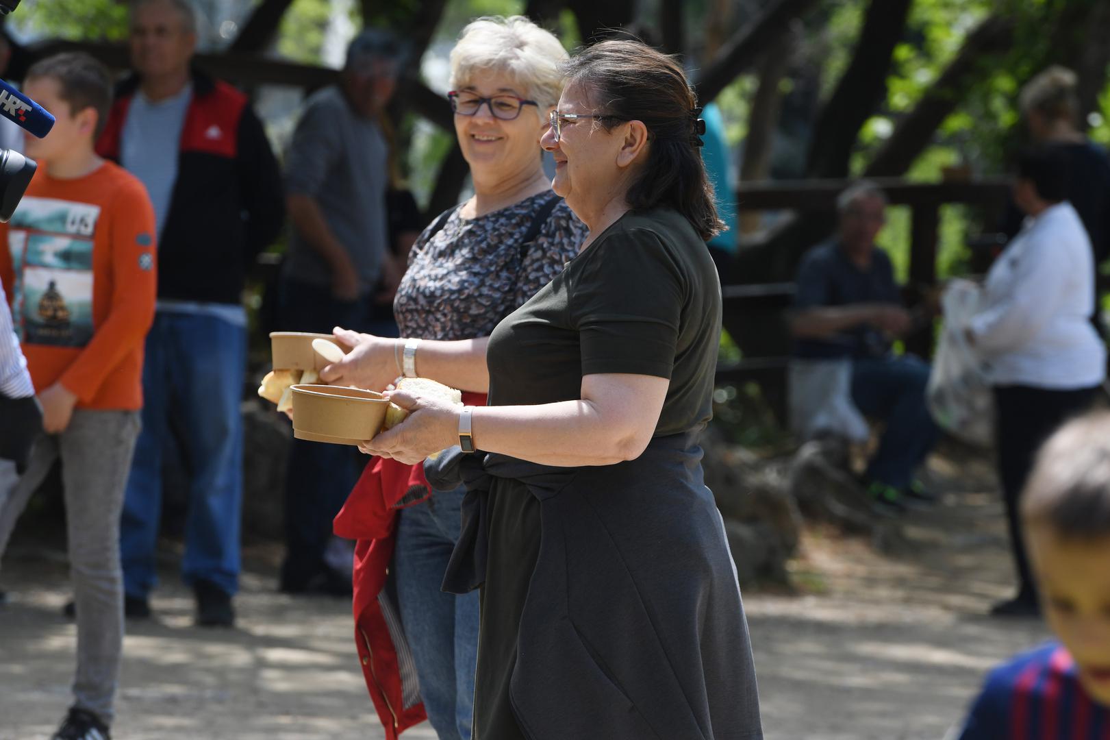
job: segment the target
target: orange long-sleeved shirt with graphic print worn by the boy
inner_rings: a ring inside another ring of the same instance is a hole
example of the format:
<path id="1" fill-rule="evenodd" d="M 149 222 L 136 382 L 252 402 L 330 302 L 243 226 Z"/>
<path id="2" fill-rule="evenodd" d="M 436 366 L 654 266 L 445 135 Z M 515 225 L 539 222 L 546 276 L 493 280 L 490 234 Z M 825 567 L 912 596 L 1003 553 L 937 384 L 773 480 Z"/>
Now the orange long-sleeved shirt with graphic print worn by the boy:
<path id="1" fill-rule="evenodd" d="M 61 382 L 78 408 L 142 408 L 155 260 L 154 209 L 134 176 L 111 162 L 73 180 L 39 168 L 0 223 L 0 280 L 36 392 Z"/>

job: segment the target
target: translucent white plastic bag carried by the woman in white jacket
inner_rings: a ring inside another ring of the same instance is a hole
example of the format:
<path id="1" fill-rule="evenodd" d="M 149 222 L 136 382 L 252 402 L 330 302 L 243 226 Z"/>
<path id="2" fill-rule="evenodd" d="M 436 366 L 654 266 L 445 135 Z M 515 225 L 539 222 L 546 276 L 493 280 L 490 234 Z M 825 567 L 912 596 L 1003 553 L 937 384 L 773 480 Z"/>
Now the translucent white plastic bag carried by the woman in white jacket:
<path id="1" fill-rule="evenodd" d="M 995 398 L 985 363 L 965 330 L 979 310 L 982 289 L 970 280 L 948 283 L 940 301 L 945 328 L 932 361 L 926 397 L 937 426 L 970 444 L 995 440 Z"/>

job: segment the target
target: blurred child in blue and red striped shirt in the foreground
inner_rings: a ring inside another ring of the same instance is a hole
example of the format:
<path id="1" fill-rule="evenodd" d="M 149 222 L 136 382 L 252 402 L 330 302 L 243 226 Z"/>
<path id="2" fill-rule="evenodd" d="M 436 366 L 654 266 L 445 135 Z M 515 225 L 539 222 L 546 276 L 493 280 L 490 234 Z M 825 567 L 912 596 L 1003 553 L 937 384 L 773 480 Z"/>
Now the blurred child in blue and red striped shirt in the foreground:
<path id="1" fill-rule="evenodd" d="M 1059 641 L 992 671 L 960 740 L 1108 740 L 1110 413 L 1071 421 L 1046 442 L 1021 517 Z"/>

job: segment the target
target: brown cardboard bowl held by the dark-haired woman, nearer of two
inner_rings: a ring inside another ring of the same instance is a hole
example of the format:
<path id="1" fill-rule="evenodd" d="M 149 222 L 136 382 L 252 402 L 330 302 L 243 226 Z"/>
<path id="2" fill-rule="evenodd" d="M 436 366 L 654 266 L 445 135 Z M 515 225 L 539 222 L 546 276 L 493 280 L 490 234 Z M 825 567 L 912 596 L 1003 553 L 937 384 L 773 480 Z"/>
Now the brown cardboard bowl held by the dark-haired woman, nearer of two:
<path id="1" fill-rule="evenodd" d="M 381 393 L 342 386 L 293 386 L 293 437 L 357 444 L 382 430 L 390 402 Z"/>

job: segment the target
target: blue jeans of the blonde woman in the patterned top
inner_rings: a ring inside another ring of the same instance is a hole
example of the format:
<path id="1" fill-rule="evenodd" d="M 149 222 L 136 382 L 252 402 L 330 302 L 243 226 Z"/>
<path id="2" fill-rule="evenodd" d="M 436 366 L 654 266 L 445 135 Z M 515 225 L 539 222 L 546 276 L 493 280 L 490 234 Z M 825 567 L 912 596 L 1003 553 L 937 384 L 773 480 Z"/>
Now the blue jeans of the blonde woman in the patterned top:
<path id="1" fill-rule="evenodd" d="M 470 740 L 478 656 L 478 592 L 441 590 L 460 530 L 465 488 L 402 509 L 393 577 L 424 709 L 440 740 Z"/>

